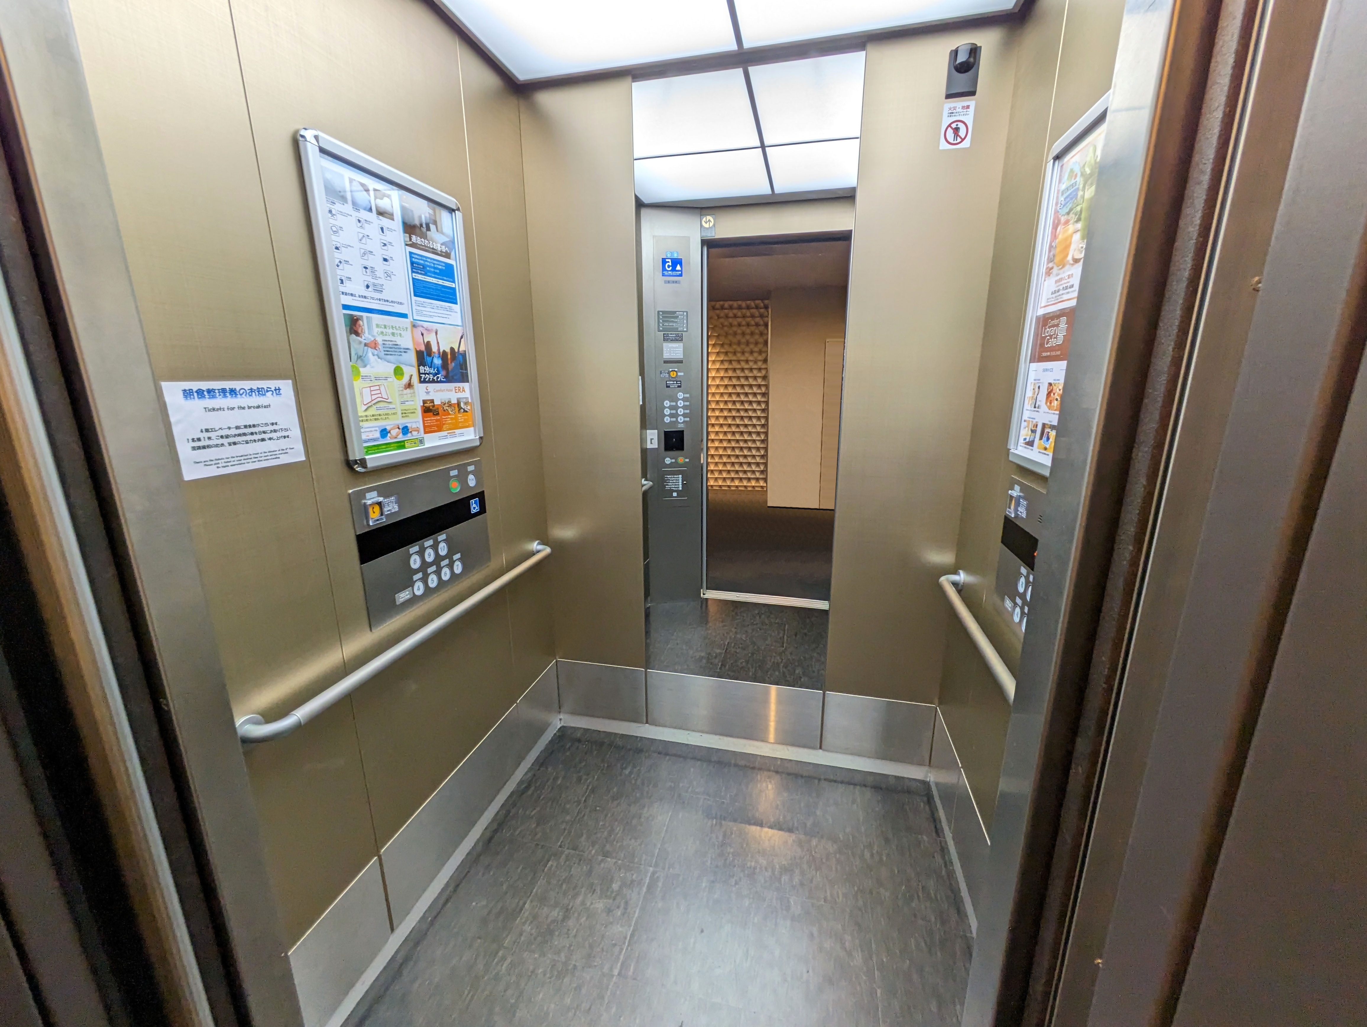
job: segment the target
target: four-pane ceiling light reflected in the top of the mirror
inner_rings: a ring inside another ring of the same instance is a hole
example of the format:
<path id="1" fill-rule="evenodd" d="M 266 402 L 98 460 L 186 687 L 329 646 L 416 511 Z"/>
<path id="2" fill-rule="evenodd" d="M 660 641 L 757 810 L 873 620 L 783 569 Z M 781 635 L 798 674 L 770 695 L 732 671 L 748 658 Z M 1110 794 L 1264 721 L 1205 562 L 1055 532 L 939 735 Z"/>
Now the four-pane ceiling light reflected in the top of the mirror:
<path id="1" fill-rule="evenodd" d="M 863 107 L 863 52 L 636 82 L 636 194 L 647 204 L 848 194 Z"/>

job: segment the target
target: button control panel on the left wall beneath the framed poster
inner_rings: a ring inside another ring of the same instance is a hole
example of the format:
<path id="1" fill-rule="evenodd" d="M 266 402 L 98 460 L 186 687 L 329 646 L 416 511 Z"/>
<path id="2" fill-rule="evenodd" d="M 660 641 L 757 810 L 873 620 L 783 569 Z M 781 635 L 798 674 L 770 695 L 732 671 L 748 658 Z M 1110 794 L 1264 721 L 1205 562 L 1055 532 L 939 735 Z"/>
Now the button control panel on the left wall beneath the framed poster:
<path id="1" fill-rule="evenodd" d="M 347 495 L 372 630 L 489 563 L 489 505 L 478 459 Z"/>

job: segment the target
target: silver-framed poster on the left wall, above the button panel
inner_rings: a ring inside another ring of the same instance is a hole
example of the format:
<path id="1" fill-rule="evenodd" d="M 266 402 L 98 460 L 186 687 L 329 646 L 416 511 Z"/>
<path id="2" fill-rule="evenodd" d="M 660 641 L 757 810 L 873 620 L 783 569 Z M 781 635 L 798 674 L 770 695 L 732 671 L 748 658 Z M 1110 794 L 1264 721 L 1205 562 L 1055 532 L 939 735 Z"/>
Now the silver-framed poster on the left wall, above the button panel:
<path id="1" fill-rule="evenodd" d="M 461 205 L 312 129 L 299 157 L 351 465 L 478 446 Z"/>

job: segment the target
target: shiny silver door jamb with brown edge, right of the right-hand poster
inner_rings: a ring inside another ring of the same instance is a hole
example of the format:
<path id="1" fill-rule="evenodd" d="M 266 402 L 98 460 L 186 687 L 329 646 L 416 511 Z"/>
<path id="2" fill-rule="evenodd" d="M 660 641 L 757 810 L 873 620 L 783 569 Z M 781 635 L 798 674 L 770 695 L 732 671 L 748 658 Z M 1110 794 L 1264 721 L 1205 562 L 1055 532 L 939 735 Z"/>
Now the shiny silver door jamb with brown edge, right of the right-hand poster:
<path id="1" fill-rule="evenodd" d="M 1218 14 L 1158 0 L 1122 22 L 964 1027 L 1025 1002 Z"/>

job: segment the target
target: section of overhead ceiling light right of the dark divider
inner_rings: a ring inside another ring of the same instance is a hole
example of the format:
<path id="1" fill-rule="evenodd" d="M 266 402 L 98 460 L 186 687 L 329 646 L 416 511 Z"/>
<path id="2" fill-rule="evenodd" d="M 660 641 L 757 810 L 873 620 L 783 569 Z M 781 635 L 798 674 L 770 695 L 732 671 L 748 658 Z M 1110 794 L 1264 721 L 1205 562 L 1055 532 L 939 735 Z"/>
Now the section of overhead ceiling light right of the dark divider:
<path id="1" fill-rule="evenodd" d="M 735 0 L 746 46 L 901 29 L 1014 11 L 1003 0 Z"/>

